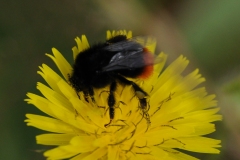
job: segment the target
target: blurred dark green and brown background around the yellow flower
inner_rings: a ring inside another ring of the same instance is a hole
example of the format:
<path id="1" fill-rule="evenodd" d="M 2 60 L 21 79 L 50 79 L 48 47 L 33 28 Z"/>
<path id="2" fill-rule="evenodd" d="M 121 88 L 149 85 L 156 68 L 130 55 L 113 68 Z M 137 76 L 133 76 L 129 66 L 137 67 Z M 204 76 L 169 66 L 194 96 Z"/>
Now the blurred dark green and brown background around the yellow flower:
<path id="1" fill-rule="evenodd" d="M 211 134 L 221 154 L 193 154 L 206 160 L 240 159 L 240 1 L 238 0 L 2 0 L 0 1 L 0 159 L 43 160 L 36 145 L 42 131 L 27 127 L 26 113 L 40 112 L 23 99 L 39 93 L 38 66 L 56 69 L 44 54 L 56 47 L 72 63 L 74 38 L 105 40 L 110 29 L 153 35 L 169 62 L 180 54 L 199 68 L 209 93 L 217 94 L 222 122 Z"/>

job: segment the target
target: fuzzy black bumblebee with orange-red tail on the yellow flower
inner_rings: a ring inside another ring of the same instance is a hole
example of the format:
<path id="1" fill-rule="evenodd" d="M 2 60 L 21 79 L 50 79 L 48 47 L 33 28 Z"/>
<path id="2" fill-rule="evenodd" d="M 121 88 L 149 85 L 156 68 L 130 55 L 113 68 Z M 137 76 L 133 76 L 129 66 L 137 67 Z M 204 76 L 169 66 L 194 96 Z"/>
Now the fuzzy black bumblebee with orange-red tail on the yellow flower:
<path id="1" fill-rule="evenodd" d="M 79 53 L 69 74 L 69 82 L 77 94 L 83 92 L 85 97 L 91 97 L 94 102 L 93 89 L 101 89 L 110 85 L 108 96 L 110 122 L 114 118 L 116 103 L 114 92 L 117 84 L 132 85 L 140 102 L 140 108 L 145 110 L 148 95 L 129 78 L 148 78 L 153 72 L 154 57 L 137 38 L 127 39 L 125 35 L 117 35 L 104 43 L 98 43 Z M 140 95 L 140 96 L 138 96 Z M 87 99 L 86 99 L 87 100 Z"/>

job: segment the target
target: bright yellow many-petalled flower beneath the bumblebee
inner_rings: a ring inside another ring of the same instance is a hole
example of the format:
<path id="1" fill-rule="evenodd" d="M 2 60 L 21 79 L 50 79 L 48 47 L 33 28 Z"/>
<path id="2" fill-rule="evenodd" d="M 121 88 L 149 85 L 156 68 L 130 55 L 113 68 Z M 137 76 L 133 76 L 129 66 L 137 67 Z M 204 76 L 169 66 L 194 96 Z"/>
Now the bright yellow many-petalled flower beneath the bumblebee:
<path id="1" fill-rule="evenodd" d="M 131 32 L 107 32 L 107 39 Z M 83 35 L 75 39 L 75 59 L 79 52 L 89 47 Z M 155 40 L 149 38 L 148 49 L 154 53 Z M 47 116 L 27 114 L 28 126 L 50 133 L 38 135 L 37 143 L 57 146 L 44 153 L 48 159 L 71 160 L 196 160 L 182 153 L 187 150 L 201 153 L 219 153 L 216 148 L 220 140 L 204 137 L 215 131 L 217 114 L 215 95 L 208 95 L 204 87 L 197 86 L 205 81 L 198 69 L 183 76 L 188 60 L 180 56 L 164 67 L 167 55 L 160 53 L 161 62 L 154 66 L 154 73 L 147 80 L 131 79 L 149 96 L 148 108 L 139 107 L 131 86 L 117 87 L 115 117 L 109 123 L 108 87 L 94 90 L 95 103 L 85 101 L 68 83 L 72 66 L 61 53 L 53 48 L 50 57 L 63 77 L 46 64 L 38 71 L 47 85 L 38 82 L 37 89 L 43 96 L 28 93 L 27 103 L 33 104 Z M 137 93 L 136 93 L 137 94 Z"/>

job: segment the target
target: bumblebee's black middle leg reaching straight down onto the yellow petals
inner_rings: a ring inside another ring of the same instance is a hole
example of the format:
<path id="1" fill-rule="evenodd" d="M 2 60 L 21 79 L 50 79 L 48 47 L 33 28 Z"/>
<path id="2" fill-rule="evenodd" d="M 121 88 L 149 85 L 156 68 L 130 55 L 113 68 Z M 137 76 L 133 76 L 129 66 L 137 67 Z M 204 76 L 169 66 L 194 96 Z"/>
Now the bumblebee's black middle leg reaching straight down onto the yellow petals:
<path id="1" fill-rule="evenodd" d="M 116 103 L 115 97 L 114 97 L 114 92 L 116 91 L 117 83 L 114 81 L 110 85 L 110 91 L 109 91 L 109 96 L 108 96 L 108 106 L 109 106 L 109 117 L 110 117 L 110 122 L 105 124 L 104 126 L 107 127 L 113 120 L 114 114 L 115 114 L 115 109 L 114 105 Z"/>

